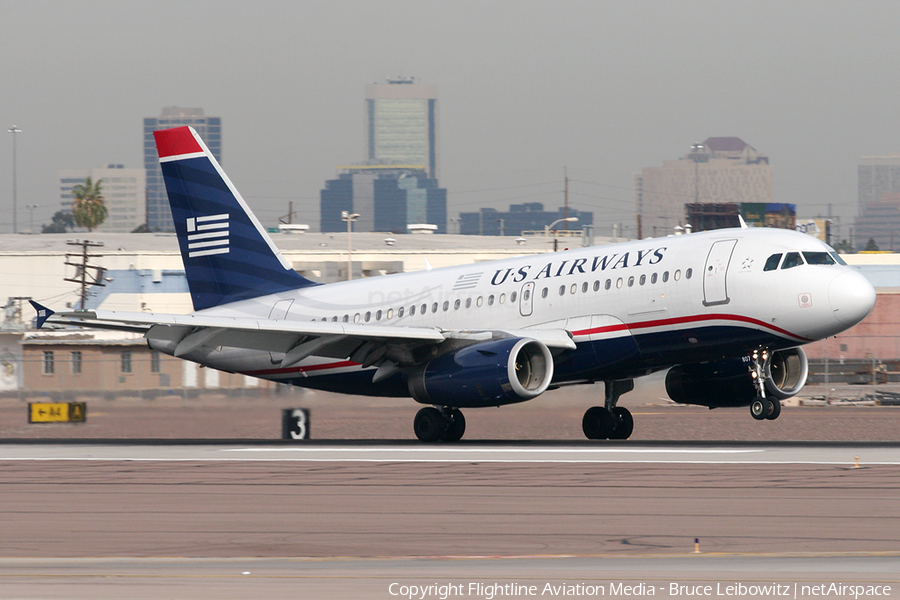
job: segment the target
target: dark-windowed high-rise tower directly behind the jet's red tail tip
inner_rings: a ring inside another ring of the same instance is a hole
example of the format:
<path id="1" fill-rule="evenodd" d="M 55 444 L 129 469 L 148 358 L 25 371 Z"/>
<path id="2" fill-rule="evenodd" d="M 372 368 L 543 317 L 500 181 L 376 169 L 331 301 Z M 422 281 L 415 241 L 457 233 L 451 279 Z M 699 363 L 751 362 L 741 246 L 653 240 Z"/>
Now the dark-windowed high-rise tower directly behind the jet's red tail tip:
<path id="1" fill-rule="evenodd" d="M 144 119 L 144 168 L 147 170 L 147 227 L 151 231 L 175 231 L 172 210 L 159 168 L 153 132 L 190 125 L 197 130 L 216 160 L 222 161 L 222 119 L 207 117 L 202 108 L 166 107 L 158 117 Z"/>

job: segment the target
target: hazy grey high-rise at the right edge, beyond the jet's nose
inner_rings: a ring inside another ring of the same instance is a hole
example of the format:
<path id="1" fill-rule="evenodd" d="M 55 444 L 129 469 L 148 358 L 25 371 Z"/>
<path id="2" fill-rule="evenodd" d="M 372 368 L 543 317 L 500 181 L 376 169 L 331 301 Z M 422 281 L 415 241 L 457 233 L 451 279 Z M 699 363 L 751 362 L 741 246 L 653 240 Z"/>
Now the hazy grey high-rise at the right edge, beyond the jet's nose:
<path id="1" fill-rule="evenodd" d="M 856 248 L 864 249 L 869 238 L 880 250 L 900 248 L 900 154 L 863 156 L 857 173 Z"/>

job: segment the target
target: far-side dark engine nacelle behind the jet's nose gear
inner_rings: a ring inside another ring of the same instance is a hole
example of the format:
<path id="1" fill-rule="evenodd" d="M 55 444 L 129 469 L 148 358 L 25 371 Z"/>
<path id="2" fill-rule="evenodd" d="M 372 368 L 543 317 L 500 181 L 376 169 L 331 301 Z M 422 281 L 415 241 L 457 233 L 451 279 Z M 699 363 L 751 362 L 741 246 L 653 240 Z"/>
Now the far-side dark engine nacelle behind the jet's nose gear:
<path id="1" fill-rule="evenodd" d="M 666 393 L 679 404 L 749 406 L 756 397 L 749 358 L 678 365 L 666 375 Z M 766 395 L 784 400 L 806 384 L 809 362 L 802 348 L 777 350 L 764 365 Z"/>

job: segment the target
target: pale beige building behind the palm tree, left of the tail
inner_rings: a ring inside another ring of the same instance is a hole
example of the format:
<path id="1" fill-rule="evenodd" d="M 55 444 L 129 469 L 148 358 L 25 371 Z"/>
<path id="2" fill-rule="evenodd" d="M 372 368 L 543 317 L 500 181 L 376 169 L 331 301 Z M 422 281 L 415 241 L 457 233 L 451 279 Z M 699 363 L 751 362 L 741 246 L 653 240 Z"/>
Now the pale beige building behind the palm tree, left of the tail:
<path id="1" fill-rule="evenodd" d="M 130 233 L 147 222 L 145 171 L 126 169 L 123 165 L 60 171 L 59 194 L 64 211 L 72 210 L 72 188 L 83 184 L 88 177 L 94 183 L 100 182 L 100 192 L 106 201 L 106 220 L 95 231 Z"/>

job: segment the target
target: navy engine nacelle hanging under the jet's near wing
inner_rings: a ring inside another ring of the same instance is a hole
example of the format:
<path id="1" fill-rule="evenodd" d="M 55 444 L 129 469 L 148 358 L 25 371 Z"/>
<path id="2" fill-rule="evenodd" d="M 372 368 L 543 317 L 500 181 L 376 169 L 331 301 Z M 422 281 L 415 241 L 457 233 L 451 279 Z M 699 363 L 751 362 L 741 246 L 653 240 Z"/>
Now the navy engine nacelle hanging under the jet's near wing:
<path id="1" fill-rule="evenodd" d="M 504 338 L 466 346 L 428 362 L 409 377 L 409 393 L 423 404 L 454 408 L 500 406 L 542 394 L 553 379 L 543 343 Z"/>

